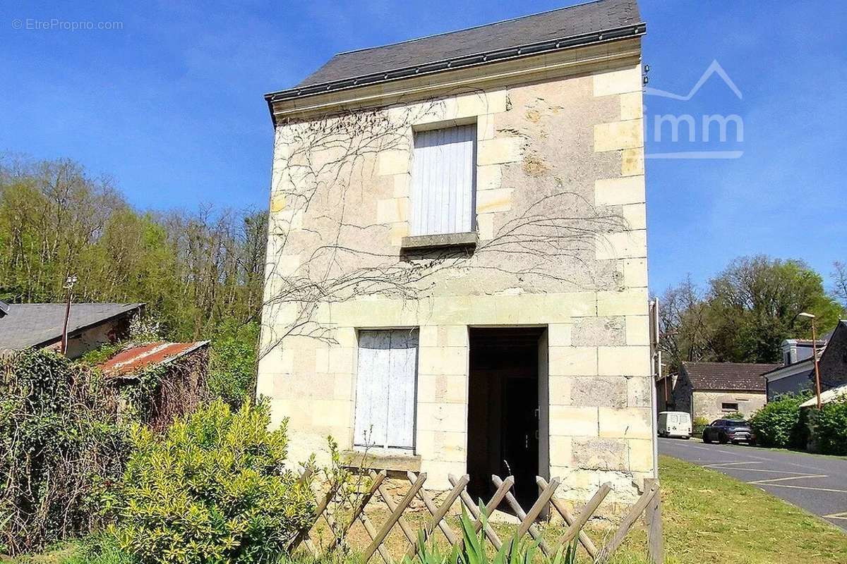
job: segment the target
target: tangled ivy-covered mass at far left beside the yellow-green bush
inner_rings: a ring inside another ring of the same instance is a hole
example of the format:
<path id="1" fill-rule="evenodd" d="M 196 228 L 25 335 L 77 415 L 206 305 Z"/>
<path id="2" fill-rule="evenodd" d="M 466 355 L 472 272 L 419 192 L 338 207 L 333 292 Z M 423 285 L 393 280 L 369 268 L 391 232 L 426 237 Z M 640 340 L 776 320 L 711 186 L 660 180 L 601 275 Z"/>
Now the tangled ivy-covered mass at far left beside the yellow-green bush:
<path id="1" fill-rule="evenodd" d="M 87 533 L 97 490 L 127 451 L 117 397 L 95 370 L 26 350 L 0 362 L 0 546 L 11 554 Z"/>

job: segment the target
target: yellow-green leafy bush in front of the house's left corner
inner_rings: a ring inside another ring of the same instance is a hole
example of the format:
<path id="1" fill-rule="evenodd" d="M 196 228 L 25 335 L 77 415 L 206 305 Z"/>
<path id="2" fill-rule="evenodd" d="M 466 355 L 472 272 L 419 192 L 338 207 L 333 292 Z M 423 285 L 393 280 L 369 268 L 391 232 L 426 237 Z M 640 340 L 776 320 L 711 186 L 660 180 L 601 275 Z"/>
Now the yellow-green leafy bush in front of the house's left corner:
<path id="1" fill-rule="evenodd" d="M 164 435 L 137 427 L 136 451 L 113 494 L 111 530 L 141 563 L 260 562 L 280 555 L 307 524 L 313 496 L 283 468 L 285 423 L 268 406 L 232 412 L 218 400 Z"/>

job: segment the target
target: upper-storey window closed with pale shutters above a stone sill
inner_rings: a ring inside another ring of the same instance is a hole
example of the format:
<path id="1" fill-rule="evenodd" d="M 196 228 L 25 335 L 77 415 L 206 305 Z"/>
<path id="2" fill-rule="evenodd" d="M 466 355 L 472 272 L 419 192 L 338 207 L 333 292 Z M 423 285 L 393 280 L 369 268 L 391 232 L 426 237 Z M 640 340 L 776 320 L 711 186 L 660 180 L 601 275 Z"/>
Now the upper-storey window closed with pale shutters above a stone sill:
<path id="1" fill-rule="evenodd" d="M 412 235 L 473 231 L 476 125 L 415 133 Z"/>

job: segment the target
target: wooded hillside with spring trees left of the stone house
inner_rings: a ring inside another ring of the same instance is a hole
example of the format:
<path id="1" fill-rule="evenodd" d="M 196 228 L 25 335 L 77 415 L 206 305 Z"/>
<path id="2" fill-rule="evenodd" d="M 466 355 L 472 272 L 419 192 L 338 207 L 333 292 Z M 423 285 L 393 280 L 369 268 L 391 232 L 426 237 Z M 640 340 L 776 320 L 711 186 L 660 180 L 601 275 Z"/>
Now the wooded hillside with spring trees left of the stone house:
<path id="1" fill-rule="evenodd" d="M 138 211 L 69 160 L 0 160 L 0 299 L 146 302 L 174 339 L 257 321 L 266 211 Z"/>

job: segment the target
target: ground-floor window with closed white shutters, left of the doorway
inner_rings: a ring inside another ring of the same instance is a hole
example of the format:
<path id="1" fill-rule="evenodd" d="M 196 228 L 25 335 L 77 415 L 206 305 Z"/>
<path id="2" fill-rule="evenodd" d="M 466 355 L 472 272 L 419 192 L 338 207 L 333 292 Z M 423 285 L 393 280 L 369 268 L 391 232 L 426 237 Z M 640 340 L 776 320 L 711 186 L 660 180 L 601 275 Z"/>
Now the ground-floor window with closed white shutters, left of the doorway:
<path id="1" fill-rule="evenodd" d="M 413 449 L 418 331 L 359 331 L 356 446 Z"/>

